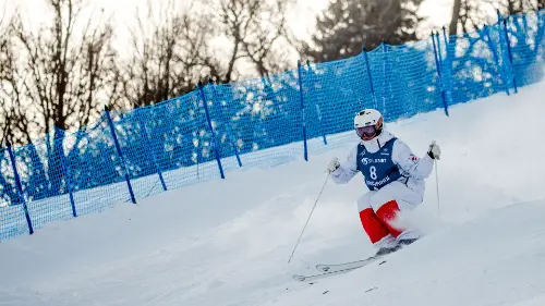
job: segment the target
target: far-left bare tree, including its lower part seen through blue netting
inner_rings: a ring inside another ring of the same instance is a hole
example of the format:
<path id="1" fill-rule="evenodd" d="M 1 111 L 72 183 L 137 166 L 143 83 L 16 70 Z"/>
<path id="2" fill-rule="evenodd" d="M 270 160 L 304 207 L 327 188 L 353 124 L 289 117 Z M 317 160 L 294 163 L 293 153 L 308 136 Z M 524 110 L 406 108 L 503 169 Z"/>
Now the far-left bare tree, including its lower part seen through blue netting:
<path id="1" fill-rule="evenodd" d="M 37 30 L 20 14 L 11 22 L 1 49 L 1 94 L 10 106 L 4 137 L 19 145 L 45 145 L 47 173 L 35 146 L 19 156 L 27 161 L 27 182 L 40 182 L 29 186 L 55 194 L 62 185 L 64 154 L 64 133 L 56 126 L 76 130 L 97 119 L 102 103 L 119 99 L 119 72 L 112 27 L 104 15 L 98 24 L 84 21 L 81 0 L 48 0 L 47 5 L 52 19 Z M 76 26 L 83 29 L 76 32 Z"/>

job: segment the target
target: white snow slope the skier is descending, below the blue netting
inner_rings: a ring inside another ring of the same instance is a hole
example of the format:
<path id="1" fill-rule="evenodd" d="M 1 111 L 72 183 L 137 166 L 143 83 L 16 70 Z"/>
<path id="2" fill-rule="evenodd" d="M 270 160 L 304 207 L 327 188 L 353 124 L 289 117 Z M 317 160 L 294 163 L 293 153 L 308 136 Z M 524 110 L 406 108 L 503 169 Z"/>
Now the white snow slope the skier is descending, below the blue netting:
<path id="1" fill-rule="evenodd" d="M 358 176 L 327 183 L 288 264 L 327 161 L 354 145 L 346 133 L 308 162 L 243 169 L 1 243 L 0 305 L 544 305 L 544 95 L 537 84 L 387 125 L 417 155 L 433 139 L 444 154 L 440 213 L 433 175 L 408 216 L 427 236 L 385 265 L 291 279 L 374 253 Z"/>

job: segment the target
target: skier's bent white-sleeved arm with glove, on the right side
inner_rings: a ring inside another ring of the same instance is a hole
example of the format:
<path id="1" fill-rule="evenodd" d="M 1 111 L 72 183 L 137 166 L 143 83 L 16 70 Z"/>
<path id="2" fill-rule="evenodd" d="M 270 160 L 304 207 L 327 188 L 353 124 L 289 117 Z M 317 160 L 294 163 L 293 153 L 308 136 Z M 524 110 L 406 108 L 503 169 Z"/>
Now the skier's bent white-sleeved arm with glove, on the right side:
<path id="1" fill-rule="evenodd" d="M 419 158 L 411 148 L 400 139 L 397 139 L 392 148 L 392 159 L 401 170 L 415 179 L 427 179 L 434 168 L 434 159 L 439 159 L 440 149 L 434 143 L 429 145 L 427 154 Z"/>

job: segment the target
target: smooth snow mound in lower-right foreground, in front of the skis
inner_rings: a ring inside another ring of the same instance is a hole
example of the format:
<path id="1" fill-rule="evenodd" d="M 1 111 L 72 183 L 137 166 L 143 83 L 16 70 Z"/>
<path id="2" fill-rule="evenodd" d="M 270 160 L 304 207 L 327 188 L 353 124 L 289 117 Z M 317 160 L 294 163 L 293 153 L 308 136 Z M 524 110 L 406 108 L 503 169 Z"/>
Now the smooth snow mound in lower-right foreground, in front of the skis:
<path id="1" fill-rule="evenodd" d="M 497 209 L 263 305 L 545 305 L 543 216 L 545 200 Z"/>

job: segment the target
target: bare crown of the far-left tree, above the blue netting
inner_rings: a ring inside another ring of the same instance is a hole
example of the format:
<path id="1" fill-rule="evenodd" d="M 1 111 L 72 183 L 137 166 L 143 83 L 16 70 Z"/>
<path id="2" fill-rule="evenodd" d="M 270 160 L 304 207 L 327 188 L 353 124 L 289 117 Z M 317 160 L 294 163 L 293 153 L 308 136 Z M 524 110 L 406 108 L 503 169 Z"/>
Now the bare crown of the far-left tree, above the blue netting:
<path id="1" fill-rule="evenodd" d="M 36 110 L 27 115 L 35 124 L 25 131 L 31 134 L 26 138 L 52 132 L 53 124 L 80 128 L 98 117 L 101 101 L 118 99 L 112 27 L 108 22 L 94 27 L 89 20 L 76 34 L 81 0 L 48 0 L 47 4 L 53 19 L 37 33 L 26 28 L 21 16 L 13 23 L 16 47 L 23 53 L 15 81 L 23 85 L 21 100 Z"/>

